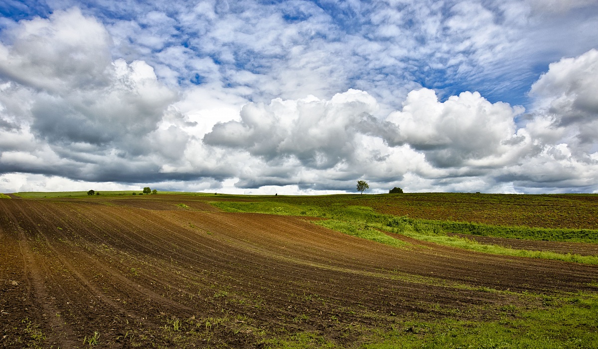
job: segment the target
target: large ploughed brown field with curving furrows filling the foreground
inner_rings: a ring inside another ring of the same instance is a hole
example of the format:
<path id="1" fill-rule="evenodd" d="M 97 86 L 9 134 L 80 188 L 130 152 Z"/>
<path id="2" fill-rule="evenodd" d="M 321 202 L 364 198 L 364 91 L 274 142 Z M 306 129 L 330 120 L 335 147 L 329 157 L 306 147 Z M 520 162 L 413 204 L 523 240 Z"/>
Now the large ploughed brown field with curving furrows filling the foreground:
<path id="1" fill-rule="evenodd" d="M 598 290 L 598 266 L 393 248 L 181 200 L 0 200 L 0 347 L 87 347 L 94 332 L 115 348 L 260 347 L 302 331 L 348 345 L 416 313 L 494 318 L 531 302 L 512 292 Z"/>

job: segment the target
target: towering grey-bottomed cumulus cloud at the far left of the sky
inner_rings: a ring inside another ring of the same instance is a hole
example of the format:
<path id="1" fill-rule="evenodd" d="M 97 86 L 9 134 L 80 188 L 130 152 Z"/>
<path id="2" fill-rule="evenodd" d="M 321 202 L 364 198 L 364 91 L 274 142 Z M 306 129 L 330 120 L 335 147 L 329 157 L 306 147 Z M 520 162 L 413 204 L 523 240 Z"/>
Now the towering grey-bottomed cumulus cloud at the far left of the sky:
<path id="1" fill-rule="evenodd" d="M 160 127 L 184 123 L 170 107 L 177 93 L 143 61 L 112 61 L 101 23 L 57 11 L 8 35 L 13 44 L 0 45 L 3 172 L 129 181 L 182 153 L 188 135 Z"/>

